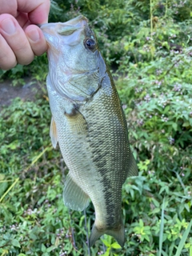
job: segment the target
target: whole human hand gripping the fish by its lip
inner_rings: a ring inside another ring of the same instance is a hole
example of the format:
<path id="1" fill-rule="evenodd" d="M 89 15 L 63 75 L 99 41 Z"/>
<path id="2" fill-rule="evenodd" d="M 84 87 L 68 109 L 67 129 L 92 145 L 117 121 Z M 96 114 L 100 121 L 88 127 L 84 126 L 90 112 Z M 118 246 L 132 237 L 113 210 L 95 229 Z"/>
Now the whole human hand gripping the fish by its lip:
<path id="1" fill-rule="evenodd" d="M 42 30 L 34 24 L 48 21 L 50 0 L 0 0 L 0 69 L 30 64 L 47 50 Z"/>

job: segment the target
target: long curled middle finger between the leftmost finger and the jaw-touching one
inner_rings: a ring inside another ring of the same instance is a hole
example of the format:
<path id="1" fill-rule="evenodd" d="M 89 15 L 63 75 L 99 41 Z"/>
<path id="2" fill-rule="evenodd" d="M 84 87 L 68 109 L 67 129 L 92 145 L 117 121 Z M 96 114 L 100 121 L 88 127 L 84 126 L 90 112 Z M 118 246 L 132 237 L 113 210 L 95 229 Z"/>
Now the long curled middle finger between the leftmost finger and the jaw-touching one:
<path id="1" fill-rule="evenodd" d="M 0 15 L 0 34 L 13 50 L 18 63 L 27 65 L 32 62 L 34 53 L 30 48 L 30 42 L 16 19 L 10 14 Z"/>

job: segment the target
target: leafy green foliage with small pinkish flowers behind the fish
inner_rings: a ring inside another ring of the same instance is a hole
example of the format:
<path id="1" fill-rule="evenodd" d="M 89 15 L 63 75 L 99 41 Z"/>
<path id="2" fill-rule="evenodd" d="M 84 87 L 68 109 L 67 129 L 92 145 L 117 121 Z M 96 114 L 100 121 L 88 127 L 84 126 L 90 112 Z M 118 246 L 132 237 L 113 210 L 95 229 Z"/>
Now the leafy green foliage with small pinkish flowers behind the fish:
<path id="1" fill-rule="evenodd" d="M 190 7 L 190 0 L 52 1 L 50 22 L 87 16 L 102 54 L 118 69 L 113 73 L 138 161 L 138 177 L 122 190 L 125 247 L 104 235 L 91 255 L 192 254 Z M 45 54 L 30 66 L 1 71 L 13 85 L 35 78 L 44 94 L 46 73 Z M 68 170 L 50 146 L 46 99 L 16 98 L 0 114 L 2 255 L 89 255 L 94 208 L 85 216 L 63 205 Z"/>

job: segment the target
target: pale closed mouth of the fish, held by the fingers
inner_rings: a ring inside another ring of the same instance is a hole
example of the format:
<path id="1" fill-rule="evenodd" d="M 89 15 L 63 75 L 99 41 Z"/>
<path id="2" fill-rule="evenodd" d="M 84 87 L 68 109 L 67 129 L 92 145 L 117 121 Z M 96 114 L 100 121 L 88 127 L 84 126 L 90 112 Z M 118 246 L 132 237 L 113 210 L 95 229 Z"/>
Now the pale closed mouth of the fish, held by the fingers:
<path id="1" fill-rule="evenodd" d="M 79 15 L 67 22 L 45 23 L 38 26 L 41 28 L 45 38 L 48 39 L 51 35 L 54 35 L 55 32 L 64 36 L 73 34 L 76 30 L 82 30 L 82 28 L 87 26 L 87 23 L 87 18 L 83 15 Z M 49 40 L 47 41 L 49 42 Z"/>

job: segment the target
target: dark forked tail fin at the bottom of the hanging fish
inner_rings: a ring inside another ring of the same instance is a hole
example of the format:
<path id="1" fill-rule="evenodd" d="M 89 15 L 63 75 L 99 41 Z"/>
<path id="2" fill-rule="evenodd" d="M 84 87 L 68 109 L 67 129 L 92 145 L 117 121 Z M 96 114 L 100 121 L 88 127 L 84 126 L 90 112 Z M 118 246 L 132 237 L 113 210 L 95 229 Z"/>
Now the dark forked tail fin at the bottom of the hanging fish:
<path id="1" fill-rule="evenodd" d="M 91 233 L 90 233 L 90 241 L 89 241 L 89 246 L 93 246 L 94 242 L 96 242 L 98 240 L 98 238 L 100 238 L 102 236 L 102 234 L 109 234 L 112 237 L 114 237 L 117 242 L 119 243 L 120 246 L 124 246 L 125 243 L 125 230 L 124 230 L 124 226 L 121 225 L 120 229 L 115 229 L 115 230 L 98 230 L 98 228 L 94 225 Z"/>

